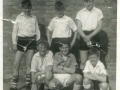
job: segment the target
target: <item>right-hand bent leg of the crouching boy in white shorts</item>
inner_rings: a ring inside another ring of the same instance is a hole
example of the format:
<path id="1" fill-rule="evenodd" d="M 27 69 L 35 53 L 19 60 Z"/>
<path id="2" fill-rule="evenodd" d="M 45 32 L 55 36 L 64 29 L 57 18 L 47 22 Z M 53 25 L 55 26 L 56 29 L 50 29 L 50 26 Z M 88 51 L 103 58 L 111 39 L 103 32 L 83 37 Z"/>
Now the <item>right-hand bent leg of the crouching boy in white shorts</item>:
<path id="1" fill-rule="evenodd" d="M 80 74 L 73 74 L 68 79 L 66 85 L 74 84 L 73 90 L 81 90 L 82 76 Z"/>

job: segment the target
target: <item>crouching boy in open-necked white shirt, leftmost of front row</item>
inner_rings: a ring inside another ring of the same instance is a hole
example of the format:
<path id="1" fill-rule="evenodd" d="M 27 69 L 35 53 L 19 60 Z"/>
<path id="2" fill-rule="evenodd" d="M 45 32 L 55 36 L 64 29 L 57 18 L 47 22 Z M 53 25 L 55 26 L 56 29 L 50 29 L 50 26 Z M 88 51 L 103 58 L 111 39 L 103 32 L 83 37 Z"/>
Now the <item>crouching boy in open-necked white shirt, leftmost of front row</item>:
<path id="1" fill-rule="evenodd" d="M 39 41 L 38 50 L 31 62 L 32 73 L 32 88 L 36 90 L 36 84 L 45 83 L 45 89 L 48 87 L 49 81 L 52 79 L 52 65 L 53 65 L 53 53 L 48 50 L 48 42 Z"/>

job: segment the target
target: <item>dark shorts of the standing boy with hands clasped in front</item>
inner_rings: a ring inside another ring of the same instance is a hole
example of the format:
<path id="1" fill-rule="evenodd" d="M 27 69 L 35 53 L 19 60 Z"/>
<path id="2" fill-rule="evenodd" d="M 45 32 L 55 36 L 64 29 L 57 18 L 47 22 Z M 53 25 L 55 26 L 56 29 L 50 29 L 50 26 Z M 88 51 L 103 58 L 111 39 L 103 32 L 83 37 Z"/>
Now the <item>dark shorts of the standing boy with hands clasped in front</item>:
<path id="1" fill-rule="evenodd" d="M 92 31 L 84 31 L 85 35 L 89 35 L 92 32 L 93 32 L 93 30 Z M 91 42 L 93 44 L 96 44 L 96 43 L 100 42 L 100 40 L 99 40 L 99 33 L 91 38 Z M 87 46 L 86 42 L 83 40 L 82 37 L 80 37 L 80 48 L 79 48 L 79 50 L 89 50 L 89 49 L 90 48 Z"/>

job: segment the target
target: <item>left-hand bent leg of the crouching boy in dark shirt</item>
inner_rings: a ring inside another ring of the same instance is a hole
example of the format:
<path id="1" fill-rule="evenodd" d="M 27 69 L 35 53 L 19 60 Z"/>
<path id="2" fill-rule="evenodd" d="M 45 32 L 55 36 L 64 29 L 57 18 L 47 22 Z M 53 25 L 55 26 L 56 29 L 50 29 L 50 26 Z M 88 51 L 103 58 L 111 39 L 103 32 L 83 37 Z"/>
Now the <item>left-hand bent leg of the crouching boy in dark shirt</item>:
<path id="1" fill-rule="evenodd" d="M 49 82 L 49 89 L 50 90 L 54 90 L 55 88 L 61 88 L 61 87 L 63 87 L 62 83 L 56 78 L 53 78 Z"/>

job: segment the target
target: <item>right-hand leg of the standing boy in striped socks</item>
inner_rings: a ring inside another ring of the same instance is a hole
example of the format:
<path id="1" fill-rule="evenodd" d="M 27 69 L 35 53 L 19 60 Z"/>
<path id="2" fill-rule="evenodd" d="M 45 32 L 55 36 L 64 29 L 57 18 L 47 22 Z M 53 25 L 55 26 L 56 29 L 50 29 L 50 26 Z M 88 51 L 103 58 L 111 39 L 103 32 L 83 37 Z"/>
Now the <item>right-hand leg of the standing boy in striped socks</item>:
<path id="1" fill-rule="evenodd" d="M 32 60 L 33 55 L 34 55 L 34 50 L 28 50 L 27 51 L 27 56 L 26 56 L 26 67 L 27 67 L 27 71 L 26 71 L 26 86 L 29 85 L 30 82 L 31 82 L 30 69 L 31 69 L 31 60 Z"/>

